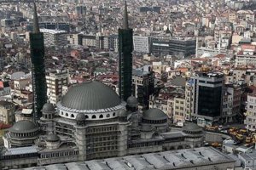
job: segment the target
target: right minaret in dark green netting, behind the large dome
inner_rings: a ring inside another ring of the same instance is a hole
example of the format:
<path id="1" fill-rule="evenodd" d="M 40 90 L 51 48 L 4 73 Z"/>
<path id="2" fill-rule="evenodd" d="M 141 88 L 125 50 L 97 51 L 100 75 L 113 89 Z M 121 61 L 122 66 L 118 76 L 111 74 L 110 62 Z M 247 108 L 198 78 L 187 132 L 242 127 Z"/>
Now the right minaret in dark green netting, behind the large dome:
<path id="1" fill-rule="evenodd" d="M 124 24 L 123 28 L 119 28 L 119 96 L 125 101 L 131 96 L 132 34 L 133 31 L 128 26 L 127 5 L 125 1 Z"/>

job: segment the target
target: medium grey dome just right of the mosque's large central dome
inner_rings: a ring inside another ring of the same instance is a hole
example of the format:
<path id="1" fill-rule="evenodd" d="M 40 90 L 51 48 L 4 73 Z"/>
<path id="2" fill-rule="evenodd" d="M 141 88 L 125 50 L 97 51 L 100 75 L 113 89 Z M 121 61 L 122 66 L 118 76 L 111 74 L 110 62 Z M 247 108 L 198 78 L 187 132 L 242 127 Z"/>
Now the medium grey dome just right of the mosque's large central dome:
<path id="1" fill-rule="evenodd" d="M 166 114 L 161 111 L 160 109 L 149 109 L 148 111 L 145 111 L 143 113 L 143 119 L 148 121 L 160 121 L 160 120 L 166 120 L 168 117 Z"/>

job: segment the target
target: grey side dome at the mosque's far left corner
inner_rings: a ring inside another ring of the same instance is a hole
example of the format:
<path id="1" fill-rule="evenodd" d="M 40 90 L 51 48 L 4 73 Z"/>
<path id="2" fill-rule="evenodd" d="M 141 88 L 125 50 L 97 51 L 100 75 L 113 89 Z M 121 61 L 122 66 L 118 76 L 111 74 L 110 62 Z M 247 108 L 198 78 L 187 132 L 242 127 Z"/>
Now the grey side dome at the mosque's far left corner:
<path id="1" fill-rule="evenodd" d="M 15 125 L 9 128 L 9 131 L 14 133 L 29 133 L 38 131 L 38 127 L 31 121 L 23 120 L 15 122 Z"/>

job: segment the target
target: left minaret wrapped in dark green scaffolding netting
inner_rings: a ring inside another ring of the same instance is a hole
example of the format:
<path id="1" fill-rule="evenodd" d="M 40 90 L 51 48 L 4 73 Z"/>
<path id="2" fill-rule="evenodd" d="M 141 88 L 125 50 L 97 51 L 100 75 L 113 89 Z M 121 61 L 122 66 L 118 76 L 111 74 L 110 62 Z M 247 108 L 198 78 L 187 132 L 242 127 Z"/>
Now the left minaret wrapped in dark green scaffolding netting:
<path id="1" fill-rule="evenodd" d="M 47 89 L 44 67 L 44 34 L 39 30 L 36 3 L 33 3 L 33 6 L 33 31 L 30 32 L 29 39 L 32 63 L 33 120 L 37 122 L 42 116 L 41 110 L 47 102 Z"/>

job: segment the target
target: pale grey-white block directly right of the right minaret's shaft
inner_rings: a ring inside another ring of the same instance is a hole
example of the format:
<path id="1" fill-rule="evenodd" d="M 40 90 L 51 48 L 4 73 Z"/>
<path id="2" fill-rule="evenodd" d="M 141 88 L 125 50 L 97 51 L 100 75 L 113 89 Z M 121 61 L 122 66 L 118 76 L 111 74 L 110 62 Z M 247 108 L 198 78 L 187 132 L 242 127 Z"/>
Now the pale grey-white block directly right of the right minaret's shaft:
<path id="1" fill-rule="evenodd" d="M 133 36 L 133 48 L 138 53 L 149 53 L 149 37 Z"/>

